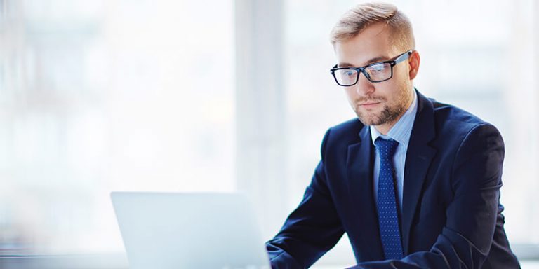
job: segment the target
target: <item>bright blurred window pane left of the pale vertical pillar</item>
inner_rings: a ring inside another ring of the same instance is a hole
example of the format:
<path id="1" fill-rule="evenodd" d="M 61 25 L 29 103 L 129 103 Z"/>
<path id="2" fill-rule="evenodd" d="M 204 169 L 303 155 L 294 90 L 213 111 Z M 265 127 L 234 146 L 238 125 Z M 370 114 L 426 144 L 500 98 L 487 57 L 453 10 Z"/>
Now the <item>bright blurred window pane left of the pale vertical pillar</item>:
<path id="1" fill-rule="evenodd" d="M 233 1 L 0 3 L 0 254 L 121 251 L 110 191 L 235 188 Z"/>

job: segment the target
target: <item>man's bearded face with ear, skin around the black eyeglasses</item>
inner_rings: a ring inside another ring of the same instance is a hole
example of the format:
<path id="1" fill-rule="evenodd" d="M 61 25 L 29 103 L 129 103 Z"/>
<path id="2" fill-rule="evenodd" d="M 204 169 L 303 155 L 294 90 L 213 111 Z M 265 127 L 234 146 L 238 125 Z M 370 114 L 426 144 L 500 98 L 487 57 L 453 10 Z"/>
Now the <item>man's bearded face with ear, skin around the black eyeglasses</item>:
<path id="1" fill-rule="evenodd" d="M 392 60 L 404 53 L 390 42 L 390 29 L 383 23 L 376 23 L 364 29 L 353 39 L 335 43 L 338 67 L 364 67 L 374 62 Z M 411 48 L 406 48 L 411 49 Z M 411 57 L 418 57 L 414 53 Z M 418 58 L 417 58 L 418 59 Z M 365 125 L 375 125 L 382 133 L 387 133 L 394 123 L 406 112 L 413 100 L 410 60 L 404 60 L 393 67 L 390 80 L 371 83 L 359 75 L 356 85 L 344 87 L 348 101 L 359 120 Z"/>

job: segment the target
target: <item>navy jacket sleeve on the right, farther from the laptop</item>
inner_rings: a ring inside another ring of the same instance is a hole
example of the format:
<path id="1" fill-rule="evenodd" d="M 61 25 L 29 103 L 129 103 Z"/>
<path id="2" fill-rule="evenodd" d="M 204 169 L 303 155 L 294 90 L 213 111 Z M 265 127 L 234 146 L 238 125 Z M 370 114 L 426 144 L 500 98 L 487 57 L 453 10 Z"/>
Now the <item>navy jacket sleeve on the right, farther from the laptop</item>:
<path id="1" fill-rule="evenodd" d="M 483 124 L 470 130 L 452 164 L 453 200 L 446 208 L 446 224 L 430 251 L 354 268 L 481 268 L 502 209 L 503 156 L 503 139 L 495 127 Z"/>

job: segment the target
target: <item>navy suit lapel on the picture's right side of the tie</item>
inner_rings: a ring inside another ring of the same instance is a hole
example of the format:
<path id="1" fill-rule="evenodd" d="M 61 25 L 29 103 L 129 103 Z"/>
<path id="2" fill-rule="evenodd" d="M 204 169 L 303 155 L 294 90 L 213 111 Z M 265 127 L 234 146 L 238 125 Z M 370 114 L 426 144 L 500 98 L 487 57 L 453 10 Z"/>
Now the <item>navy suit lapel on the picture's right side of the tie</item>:
<path id="1" fill-rule="evenodd" d="M 409 254 L 410 231 L 416 214 L 422 186 L 436 149 L 428 142 L 434 139 L 434 108 L 432 102 L 418 93 L 418 113 L 410 135 L 404 167 L 402 235 L 404 254 Z"/>

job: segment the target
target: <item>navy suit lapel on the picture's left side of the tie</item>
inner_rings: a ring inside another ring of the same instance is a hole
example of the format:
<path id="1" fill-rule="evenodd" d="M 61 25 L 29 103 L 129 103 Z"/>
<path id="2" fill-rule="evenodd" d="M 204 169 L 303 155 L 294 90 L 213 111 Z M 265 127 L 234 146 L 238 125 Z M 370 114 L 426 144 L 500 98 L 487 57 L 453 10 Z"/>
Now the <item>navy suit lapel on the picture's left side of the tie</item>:
<path id="1" fill-rule="evenodd" d="M 357 214 L 354 226 L 363 240 L 361 245 L 368 250 L 368 259 L 382 260 L 384 256 L 373 197 L 373 145 L 368 126 L 361 129 L 359 138 L 359 143 L 348 146 L 347 155 L 348 191 L 352 209 Z"/>

